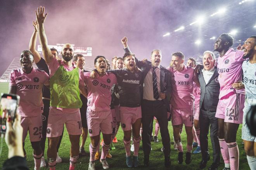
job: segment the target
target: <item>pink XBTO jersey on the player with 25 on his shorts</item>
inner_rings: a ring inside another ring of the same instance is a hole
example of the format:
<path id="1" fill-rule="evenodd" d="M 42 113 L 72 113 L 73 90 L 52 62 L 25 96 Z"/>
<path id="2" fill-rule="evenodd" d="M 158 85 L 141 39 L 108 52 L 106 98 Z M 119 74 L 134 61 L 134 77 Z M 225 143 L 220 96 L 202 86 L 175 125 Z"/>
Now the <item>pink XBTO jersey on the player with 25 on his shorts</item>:
<path id="1" fill-rule="evenodd" d="M 19 114 L 23 117 L 38 116 L 43 112 L 42 88 L 49 85 L 49 76 L 45 71 L 33 68 L 26 74 L 19 68 L 10 73 L 9 86 L 16 86 L 20 96 Z"/>

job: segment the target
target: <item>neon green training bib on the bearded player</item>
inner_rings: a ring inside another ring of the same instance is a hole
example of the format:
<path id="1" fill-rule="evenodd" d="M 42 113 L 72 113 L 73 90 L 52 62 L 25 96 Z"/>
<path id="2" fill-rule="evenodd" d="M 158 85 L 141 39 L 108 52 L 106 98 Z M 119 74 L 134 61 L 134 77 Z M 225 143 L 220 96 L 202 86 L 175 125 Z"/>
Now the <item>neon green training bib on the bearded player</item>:
<path id="1" fill-rule="evenodd" d="M 61 108 L 81 108 L 78 68 L 66 71 L 61 65 L 50 78 L 50 105 Z"/>

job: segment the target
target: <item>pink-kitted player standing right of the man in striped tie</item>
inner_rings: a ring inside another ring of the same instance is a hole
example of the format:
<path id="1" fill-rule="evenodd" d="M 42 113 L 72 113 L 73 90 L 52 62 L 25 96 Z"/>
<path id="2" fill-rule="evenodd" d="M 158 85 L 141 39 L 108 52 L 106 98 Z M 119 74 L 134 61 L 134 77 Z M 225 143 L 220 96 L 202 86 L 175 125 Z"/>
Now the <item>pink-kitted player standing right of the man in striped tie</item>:
<path id="1" fill-rule="evenodd" d="M 172 76 L 172 97 L 171 97 L 171 122 L 173 125 L 173 136 L 176 143 L 178 153 L 178 163 L 183 163 L 183 147 L 180 141 L 180 128 L 182 123 L 185 125 L 187 133 L 187 153 L 186 164 L 189 164 L 192 153 L 193 133 L 192 128 L 194 124 L 193 119 L 193 82 L 198 87 L 200 84 L 194 76 L 194 68 L 184 65 L 185 56 L 182 52 L 176 52 L 172 54 L 171 64 L 173 67 L 169 67 L 168 70 L 174 75 Z"/>

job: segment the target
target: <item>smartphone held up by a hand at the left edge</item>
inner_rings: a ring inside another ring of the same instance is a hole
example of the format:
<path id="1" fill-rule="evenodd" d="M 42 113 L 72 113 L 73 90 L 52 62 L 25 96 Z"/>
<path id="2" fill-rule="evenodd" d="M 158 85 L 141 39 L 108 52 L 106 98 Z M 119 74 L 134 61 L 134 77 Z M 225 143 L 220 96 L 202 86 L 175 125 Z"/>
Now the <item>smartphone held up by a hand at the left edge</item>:
<path id="1" fill-rule="evenodd" d="M 17 95 L 2 94 L 0 100 L 0 133 L 5 134 L 6 120 L 10 116 L 11 121 L 14 121 L 17 108 Z"/>

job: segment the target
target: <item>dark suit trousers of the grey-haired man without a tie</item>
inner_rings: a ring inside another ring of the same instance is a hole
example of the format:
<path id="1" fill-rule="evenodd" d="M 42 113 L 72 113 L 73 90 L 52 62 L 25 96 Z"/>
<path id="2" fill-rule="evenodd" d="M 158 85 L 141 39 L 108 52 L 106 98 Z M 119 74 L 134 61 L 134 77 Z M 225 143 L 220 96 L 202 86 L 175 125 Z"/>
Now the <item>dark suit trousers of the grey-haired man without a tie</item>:
<path id="1" fill-rule="evenodd" d="M 207 161 L 209 158 L 208 134 L 211 129 L 211 145 L 213 147 L 213 162 L 220 163 L 220 143 L 217 136 L 218 119 L 215 117 L 216 111 L 200 109 L 199 126 L 200 126 L 200 145 L 202 151 L 202 160 Z"/>

